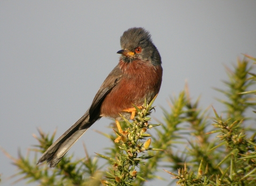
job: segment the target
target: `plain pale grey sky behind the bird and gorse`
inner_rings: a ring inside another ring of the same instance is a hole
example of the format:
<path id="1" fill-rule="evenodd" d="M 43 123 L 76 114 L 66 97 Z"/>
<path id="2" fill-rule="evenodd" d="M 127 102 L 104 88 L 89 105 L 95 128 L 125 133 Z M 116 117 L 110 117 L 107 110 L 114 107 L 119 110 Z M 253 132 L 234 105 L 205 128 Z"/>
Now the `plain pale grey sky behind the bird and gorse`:
<path id="1" fill-rule="evenodd" d="M 90 106 L 118 63 L 119 38 L 131 27 L 149 30 L 163 62 L 163 82 L 154 103 L 178 95 L 185 80 L 191 97 L 202 95 L 220 113 L 223 65 L 246 53 L 256 56 L 256 2 L 253 1 L 0 1 L 0 146 L 17 157 L 36 144 L 37 128 L 57 137 Z M 92 129 L 109 131 L 101 119 L 69 150 L 83 157 L 103 153 L 110 142 Z M 1 185 L 14 180 L 10 159 L 0 153 Z M 166 173 L 162 173 L 166 174 Z M 166 176 L 169 179 L 169 175 Z M 171 181 L 171 179 L 169 179 Z M 167 185 L 152 181 L 147 185 Z M 15 185 L 23 185 L 20 182 Z M 36 185 L 36 184 L 31 184 Z"/>

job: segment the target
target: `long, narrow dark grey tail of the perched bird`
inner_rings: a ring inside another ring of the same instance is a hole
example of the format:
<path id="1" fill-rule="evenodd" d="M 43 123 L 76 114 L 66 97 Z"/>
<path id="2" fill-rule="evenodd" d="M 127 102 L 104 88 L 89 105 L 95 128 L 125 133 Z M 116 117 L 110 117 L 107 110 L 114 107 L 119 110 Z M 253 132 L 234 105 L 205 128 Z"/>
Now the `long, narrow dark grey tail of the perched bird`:
<path id="1" fill-rule="evenodd" d="M 87 111 L 81 119 L 72 125 L 62 136 L 55 141 L 38 160 L 38 163 L 45 160 L 50 167 L 55 167 L 61 158 L 67 153 L 71 146 L 85 133 L 87 129 L 95 122 L 89 122 L 89 112 Z"/>

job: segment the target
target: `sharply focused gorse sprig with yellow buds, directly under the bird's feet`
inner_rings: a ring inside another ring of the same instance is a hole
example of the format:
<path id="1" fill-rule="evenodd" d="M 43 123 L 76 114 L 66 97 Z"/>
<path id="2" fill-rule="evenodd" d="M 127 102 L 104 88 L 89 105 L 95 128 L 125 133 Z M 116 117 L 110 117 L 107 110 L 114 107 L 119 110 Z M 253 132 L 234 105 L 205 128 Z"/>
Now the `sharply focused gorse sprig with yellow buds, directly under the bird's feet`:
<path id="1" fill-rule="evenodd" d="M 156 98 L 156 97 L 155 97 Z M 133 185 L 131 184 L 136 178 L 137 180 L 146 181 L 144 177 L 138 174 L 136 167 L 138 167 L 142 160 L 152 158 L 151 155 L 141 155 L 141 153 L 146 153 L 148 150 L 161 150 L 150 148 L 151 137 L 150 134 L 147 134 L 146 131 L 159 126 L 159 124 L 148 124 L 151 113 L 151 110 L 154 107 L 151 107 L 155 98 L 151 101 L 149 105 L 145 104 L 141 109 L 134 106 L 137 109 L 137 116 L 135 120 L 130 123 L 128 120 L 123 117 L 123 120 L 126 125 L 125 131 L 115 131 L 117 138 L 115 139 L 115 147 L 111 149 L 110 157 L 103 156 L 98 154 L 100 157 L 109 160 L 109 163 L 112 167 L 109 167 L 109 172 L 107 172 L 107 180 L 102 180 L 103 185 Z M 145 142 L 142 140 L 147 139 Z M 113 139 L 113 137 L 112 137 Z M 118 152 L 118 155 L 116 155 Z"/>

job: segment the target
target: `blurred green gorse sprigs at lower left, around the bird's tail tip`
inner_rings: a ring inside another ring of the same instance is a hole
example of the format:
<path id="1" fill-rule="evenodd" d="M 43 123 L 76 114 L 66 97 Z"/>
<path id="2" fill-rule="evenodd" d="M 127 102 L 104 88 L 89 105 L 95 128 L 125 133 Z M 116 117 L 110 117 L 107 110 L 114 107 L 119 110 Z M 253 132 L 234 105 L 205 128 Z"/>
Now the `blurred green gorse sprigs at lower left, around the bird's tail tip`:
<path id="1" fill-rule="evenodd" d="M 16 182 L 26 179 L 27 183 L 38 182 L 39 185 L 100 185 L 101 172 L 98 170 L 98 160 L 92 159 L 87 155 L 85 149 L 85 158 L 79 160 L 72 160 L 72 156 L 65 156 L 60 163 L 50 168 L 47 164 L 36 165 L 37 155 L 31 160 L 30 152 L 36 151 L 43 153 L 51 146 L 55 132 L 51 137 L 41 130 L 38 130 L 39 137 L 34 136 L 39 145 L 36 149 L 28 150 L 26 156 L 19 153 L 18 158 L 14 158 L 6 151 L 4 153 L 7 157 L 12 159 L 13 164 L 18 168 L 19 172 L 15 176 L 23 175 L 21 179 Z M 92 178 L 94 177 L 94 179 Z"/>

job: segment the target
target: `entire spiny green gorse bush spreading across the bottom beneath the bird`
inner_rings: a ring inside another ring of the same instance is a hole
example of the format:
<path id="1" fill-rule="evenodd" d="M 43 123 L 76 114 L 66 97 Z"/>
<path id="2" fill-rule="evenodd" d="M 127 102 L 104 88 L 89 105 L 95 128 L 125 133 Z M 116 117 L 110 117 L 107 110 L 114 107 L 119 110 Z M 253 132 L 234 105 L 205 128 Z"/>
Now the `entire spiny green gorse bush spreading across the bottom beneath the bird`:
<path id="1" fill-rule="evenodd" d="M 247 55 L 238 60 L 234 70 L 227 69 L 229 79 L 223 81 L 227 89 L 215 88 L 227 97 L 217 98 L 225 106 L 223 114 L 215 111 L 214 105 L 199 108 L 199 98 L 193 102 L 186 86 L 171 98 L 170 110 L 163 109 L 163 124 L 150 123 L 153 100 L 137 108 L 132 122 L 124 118 L 123 131 L 102 133 L 113 141 L 105 155 L 96 155 L 107 159 L 107 171 L 86 148 L 84 158 L 74 161 L 66 155 L 54 168 L 36 165 L 37 154 L 50 147 L 55 132 L 50 136 L 38 130 L 38 144 L 26 156 L 19 153 L 14 158 L 3 151 L 18 167 L 15 175 L 22 175 L 19 180 L 39 185 L 145 185 L 145 181 L 162 179 L 159 175 L 167 173 L 172 179 L 166 185 L 256 185 L 256 115 L 247 117 L 249 107 L 255 112 L 255 62 Z M 155 131 L 154 135 L 150 131 Z M 36 152 L 34 159 L 29 158 L 31 151 Z"/>

